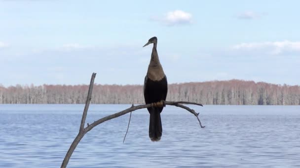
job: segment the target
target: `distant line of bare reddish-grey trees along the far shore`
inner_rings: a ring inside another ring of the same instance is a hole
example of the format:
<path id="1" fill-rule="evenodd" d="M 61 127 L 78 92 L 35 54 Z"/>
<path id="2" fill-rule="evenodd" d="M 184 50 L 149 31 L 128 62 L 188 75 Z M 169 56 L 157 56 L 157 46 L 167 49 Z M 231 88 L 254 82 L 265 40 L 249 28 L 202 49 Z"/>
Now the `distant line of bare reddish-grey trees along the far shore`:
<path id="1" fill-rule="evenodd" d="M 88 85 L 0 85 L 0 104 L 83 104 Z M 205 105 L 300 105 L 300 86 L 212 81 L 169 84 L 169 101 L 190 101 Z M 94 84 L 91 103 L 143 104 L 143 85 Z"/>

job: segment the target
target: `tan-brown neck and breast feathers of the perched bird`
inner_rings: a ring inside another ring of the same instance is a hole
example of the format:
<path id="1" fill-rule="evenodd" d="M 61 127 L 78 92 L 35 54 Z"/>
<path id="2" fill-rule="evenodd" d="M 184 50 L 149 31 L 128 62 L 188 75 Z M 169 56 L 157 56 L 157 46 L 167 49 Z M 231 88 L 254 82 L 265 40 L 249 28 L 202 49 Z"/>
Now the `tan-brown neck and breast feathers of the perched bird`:
<path id="1" fill-rule="evenodd" d="M 150 64 L 148 66 L 147 72 L 148 78 L 150 78 L 150 80 L 152 81 L 160 81 L 162 78 L 165 77 L 162 66 L 159 62 L 156 46 L 157 44 L 154 43 L 152 48 Z"/>

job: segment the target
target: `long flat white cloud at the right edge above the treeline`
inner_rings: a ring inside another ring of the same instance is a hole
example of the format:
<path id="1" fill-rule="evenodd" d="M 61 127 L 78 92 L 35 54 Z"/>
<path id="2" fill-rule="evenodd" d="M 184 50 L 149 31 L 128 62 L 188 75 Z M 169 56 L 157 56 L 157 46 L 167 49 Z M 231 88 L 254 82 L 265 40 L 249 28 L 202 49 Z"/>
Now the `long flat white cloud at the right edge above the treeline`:
<path id="1" fill-rule="evenodd" d="M 275 42 L 261 42 L 261 43 L 241 43 L 234 45 L 233 50 L 247 50 L 247 51 L 264 51 L 271 55 L 280 55 L 283 53 L 300 52 L 300 41 L 275 41 Z"/>

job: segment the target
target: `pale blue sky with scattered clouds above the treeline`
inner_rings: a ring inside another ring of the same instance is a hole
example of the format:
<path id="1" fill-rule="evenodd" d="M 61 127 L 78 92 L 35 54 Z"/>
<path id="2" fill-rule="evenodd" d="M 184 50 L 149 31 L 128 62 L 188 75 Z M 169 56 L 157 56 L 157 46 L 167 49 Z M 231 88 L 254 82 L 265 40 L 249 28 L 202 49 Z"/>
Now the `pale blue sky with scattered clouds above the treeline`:
<path id="1" fill-rule="evenodd" d="M 0 84 L 300 85 L 299 0 L 0 0 Z"/>

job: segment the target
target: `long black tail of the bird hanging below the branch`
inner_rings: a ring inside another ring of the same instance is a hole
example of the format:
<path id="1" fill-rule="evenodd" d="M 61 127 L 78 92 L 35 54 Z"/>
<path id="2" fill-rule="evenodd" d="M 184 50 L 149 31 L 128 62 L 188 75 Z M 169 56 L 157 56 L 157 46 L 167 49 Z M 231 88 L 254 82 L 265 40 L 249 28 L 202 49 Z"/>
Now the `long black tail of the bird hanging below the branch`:
<path id="1" fill-rule="evenodd" d="M 153 109 L 150 112 L 149 137 L 151 141 L 159 141 L 162 135 L 160 112 Z"/>

